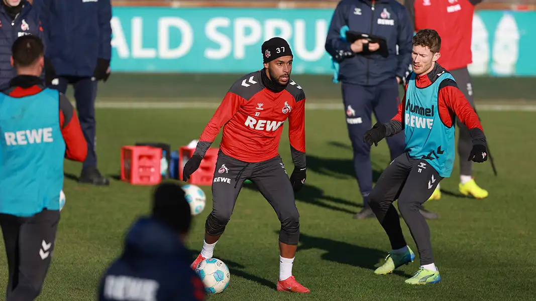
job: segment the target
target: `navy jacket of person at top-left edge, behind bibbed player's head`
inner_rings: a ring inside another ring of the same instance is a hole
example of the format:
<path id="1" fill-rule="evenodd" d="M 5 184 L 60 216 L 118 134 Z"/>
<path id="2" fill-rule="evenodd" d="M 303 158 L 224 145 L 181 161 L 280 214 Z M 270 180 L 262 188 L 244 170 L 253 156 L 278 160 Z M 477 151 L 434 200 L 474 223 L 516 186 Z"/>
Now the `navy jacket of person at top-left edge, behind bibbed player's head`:
<path id="1" fill-rule="evenodd" d="M 17 76 L 17 72 L 11 66 L 11 46 L 17 37 L 33 34 L 43 39 L 42 27 L 39 24 L 39 10 L 26 0 L 22 2 L 23 9 L 14 21 L 11 21 L 4 5 L 0 4 L 0 91 L 8 88 L 9 81 Z"/>

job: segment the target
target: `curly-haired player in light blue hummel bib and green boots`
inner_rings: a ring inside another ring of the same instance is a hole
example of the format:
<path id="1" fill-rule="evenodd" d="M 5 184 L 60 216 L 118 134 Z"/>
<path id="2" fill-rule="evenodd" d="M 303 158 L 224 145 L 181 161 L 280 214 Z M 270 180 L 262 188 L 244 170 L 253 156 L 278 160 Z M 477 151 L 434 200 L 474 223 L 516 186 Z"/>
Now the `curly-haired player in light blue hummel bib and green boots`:
<path id="1" fill-rule="evenodd" d="M 439 182 L 450 177 L 454 163 L 456 117 L 471 134 L 473 149 L 467 160 L 487 160 L 486 137 L 477 114 L 458 89 L 451 74 L 436 63 L 440 58 L 441 37 L 433 29 L 422 29 L 413 37 L 413 72 L 406 79 L 404 100 L 390 122 L 376 123 L 364 141 L 377 145 L 385 137 L 404 131 L 405 153 L 383 171 L 370 193 L 369 204 L 391 242 L 385 264 L 375 274 L 392 273 L 413 262 L 415 254 L 407 246 L 397 210 L 410 228 L 421 261 L 420 269 L 408 284 L 436 283 L 441 280 L 434 264 L 430 230 L 419 213 Z"/>

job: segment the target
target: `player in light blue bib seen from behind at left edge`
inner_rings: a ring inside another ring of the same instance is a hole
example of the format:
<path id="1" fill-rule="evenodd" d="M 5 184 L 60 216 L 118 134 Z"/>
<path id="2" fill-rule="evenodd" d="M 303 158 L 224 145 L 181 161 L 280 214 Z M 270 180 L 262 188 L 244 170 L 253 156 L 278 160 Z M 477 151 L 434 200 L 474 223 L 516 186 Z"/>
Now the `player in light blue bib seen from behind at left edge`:
<path id="1" fill-rule="evenodd" d="M 44 88 L 44 45 L 36 35 L 13 42 L 17 76 L 0 93 L 0 228 L 9 271 L 6 301 L 41 292 L 63 206 L 63 161 L 84 161 L 87 142 L 65 95 Z"/>

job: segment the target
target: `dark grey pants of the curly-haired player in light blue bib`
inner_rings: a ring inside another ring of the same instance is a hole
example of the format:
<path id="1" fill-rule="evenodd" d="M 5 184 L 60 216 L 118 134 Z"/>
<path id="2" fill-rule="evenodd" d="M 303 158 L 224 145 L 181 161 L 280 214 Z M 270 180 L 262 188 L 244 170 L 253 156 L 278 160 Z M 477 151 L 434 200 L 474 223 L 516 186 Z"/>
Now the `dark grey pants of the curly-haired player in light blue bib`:
<path id="1" fill-rule="evenodd" d="M 413 159 L 407 153 L 401 154 L 382 172 L 376 186 L 370 193 L 369 205 L 379 223 L 389 236 L 393 250 L 406 246 L 400 228 L 397 209 L 393 201 L 398 199 L 398 210 L 419 251 L 421 265 L 434 262 L 430 243 L 430 230 L 419 208 L 434 192 L 443 178 L 422 159 Z"/>

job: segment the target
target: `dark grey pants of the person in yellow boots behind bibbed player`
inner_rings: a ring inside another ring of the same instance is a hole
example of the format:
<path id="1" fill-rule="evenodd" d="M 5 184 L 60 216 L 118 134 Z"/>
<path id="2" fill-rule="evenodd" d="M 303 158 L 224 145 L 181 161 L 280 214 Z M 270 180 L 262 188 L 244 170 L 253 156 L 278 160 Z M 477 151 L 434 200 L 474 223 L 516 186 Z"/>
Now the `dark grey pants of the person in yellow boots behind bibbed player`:
<path id="1" fill-rule="evenodd" d="M 471 76 L 467 67 L 450 70 L 450 74 L 456 80 L 456 84 L 461 92 L 464 93 L 465 98 L 471 104 L 473 109 L 474 100 L 473 100 L 473 86 L 471 85 Z M 473 174 L 473 161 L 463 160 L 464 158 L 469 157 L 473 144 L 471 142 L 471 135 L 469 134 L 469 129 L 465 124 L 460 122 L 460 119 L 456 118 L 456 124 L 458 126 L 458 155 L 460 155 L 460 175 L 471 176 Z"/>

